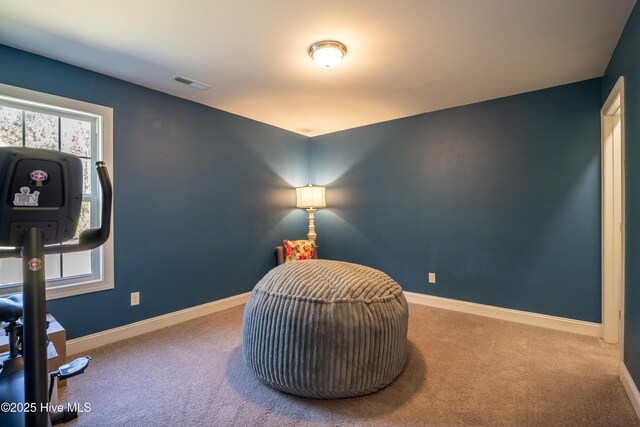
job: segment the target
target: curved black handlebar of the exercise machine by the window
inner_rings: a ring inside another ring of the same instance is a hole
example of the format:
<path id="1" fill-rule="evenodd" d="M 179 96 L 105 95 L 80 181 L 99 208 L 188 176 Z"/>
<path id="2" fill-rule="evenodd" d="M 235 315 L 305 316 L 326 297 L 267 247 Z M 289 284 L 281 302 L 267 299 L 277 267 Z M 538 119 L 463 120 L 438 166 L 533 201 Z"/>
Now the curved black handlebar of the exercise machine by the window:
<path id="1" fill-rule="evenodd" d="M 65 254 L 69 252 L 87 251 L 103 245 L 111 234 L 111 206 L 113 204 L 113 187 L 109 171 L 104 162 L 96 162 L 96 172 L 102 191 L 102 210 L 100 228 L 92 228 L 80 233 L 78 243 L 74 245 L 45 246 L 46 255 Z M 0 258 L 20 258 L 21 248 L 0 249 Z"/>

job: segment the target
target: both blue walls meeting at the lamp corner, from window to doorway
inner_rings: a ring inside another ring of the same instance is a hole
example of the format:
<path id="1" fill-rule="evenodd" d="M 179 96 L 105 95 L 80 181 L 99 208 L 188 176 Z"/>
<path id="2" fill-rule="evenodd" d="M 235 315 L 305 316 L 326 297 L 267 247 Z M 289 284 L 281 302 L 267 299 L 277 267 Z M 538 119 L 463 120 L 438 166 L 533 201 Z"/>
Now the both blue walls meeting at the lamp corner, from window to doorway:
<path id="1" fill-rule="evenodd" d="M 49 303 L 70 337 L 250 290 L 306 232 L 290 188 L 310 159 L 322 257 L 600 321 L 600 79 L 309 140 L 6 46 L 0 64 L 2 83 L 114 108 L 116 289 Z"/>

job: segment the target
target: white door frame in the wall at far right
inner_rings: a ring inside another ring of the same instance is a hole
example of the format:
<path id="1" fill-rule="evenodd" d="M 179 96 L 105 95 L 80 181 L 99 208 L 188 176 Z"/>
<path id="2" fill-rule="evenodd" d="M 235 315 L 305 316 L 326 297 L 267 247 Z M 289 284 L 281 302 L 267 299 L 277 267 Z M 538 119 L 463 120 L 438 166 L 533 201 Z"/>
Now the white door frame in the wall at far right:
<path id="1" fill-rule="evenodd" d="M 618 110 L 620 110 L 618 112 Z M 624 339 L 625 280 L 625 143 L 624 77 L 620 77 L 600 110 L 602 129 L 602 331 L 603 339 L 620 343 Z M 620 148 L 615 149 L 615 126 L 620 126 Z M 616 175 L 618 174 L 618 175 Z M 614 191 L 614 181 L 620 191 Z M 617 194 L 616 194 L 617 193 Z M 616 211 L 616 209 L 619 209 Z"/>

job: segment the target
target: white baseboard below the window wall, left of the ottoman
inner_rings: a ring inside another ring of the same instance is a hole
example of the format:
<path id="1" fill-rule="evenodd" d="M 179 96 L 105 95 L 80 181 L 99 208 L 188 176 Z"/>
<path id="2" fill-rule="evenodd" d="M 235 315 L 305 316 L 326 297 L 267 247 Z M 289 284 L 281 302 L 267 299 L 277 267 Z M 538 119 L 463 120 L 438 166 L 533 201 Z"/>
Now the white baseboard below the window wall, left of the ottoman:
<path id="1" fill-rule="evenodd" d="M 147 332 L 157 331 L 176 323 L 186 322 L 196 317 L 206 316 L 207 314 L 216 313 L 228 308 L 236 307 L 247 302 L 251 292 L 240 295 L 234 295 L 229 298 L 209 302 L 195 307 L 186 308 L 184 310 L 174 311 L 173 313 L 163 314 L 162 316 L 152 317 L 151 319 L 141 320 L 139 322 L 130 323 L 118 328 L 108 329 L 84 337 L 75 338 L 67 341 L 67 354 L 84 353 L 103 345 L 112 344 L 117 341 L 132 338 Z"/>

